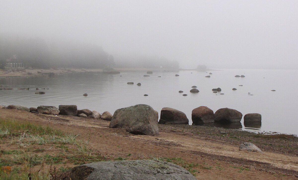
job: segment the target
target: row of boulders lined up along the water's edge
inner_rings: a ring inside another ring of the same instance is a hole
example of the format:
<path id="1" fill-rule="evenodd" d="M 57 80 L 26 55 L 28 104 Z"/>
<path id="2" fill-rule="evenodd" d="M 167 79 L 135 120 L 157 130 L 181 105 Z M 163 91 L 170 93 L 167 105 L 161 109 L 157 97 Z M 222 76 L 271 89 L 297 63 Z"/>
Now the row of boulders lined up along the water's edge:
<path id="1" fill-rule="evenodd" d="M 97 111 L 89 109 L 77 109 L 76 105 L 39 106 L 37 108 L 26 108 L 23 106 L 10 105 L 8 109 L 21 109 L 28 112 L 51 114 L 51 115 L 72 115 L 79 117 L 89 117 L 111 121 L 110 128 L 125 128 L 132 134 L 155 135 L 159 134 L 158 112 L 145 104 L 117 109 L 114 115 L 109 112 L 103 112 L 101 115 Z M 218 109 L 215 113 L 206 106 L 200 106 L 192 111 L 193 125 L 202 123 L 232 123 L 240 122 L 242 113 L 229 108 Z M 244 122 L 261 121 L 261 115 L 258 113 L 249 113 L 244 116 Z M 189 120 L 184 112 L 177 109 L 164 107 L 160 114 L 160 124 L 188 124 Z"/>

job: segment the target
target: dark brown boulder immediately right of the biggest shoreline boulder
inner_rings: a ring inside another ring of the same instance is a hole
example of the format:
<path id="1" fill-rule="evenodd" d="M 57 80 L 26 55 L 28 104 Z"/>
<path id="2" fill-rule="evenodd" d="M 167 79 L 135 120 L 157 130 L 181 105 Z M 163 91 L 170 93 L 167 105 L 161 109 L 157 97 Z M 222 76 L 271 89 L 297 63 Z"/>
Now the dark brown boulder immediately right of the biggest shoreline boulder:
<path id="1" fill-rule="evenodd" d="M 160 124 L 188 124 L 184 112 L 170 107 L 164 107 L 160 111 Z"/>

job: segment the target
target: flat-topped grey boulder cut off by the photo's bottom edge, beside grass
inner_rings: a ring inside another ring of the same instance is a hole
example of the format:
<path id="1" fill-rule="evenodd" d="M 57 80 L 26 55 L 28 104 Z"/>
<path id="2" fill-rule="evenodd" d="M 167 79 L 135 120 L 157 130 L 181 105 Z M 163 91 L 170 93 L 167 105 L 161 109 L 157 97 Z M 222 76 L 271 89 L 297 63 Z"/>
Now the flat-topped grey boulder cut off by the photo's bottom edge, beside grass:
<path id="1" fill-rule="evenodd" d="M 53 180 L 172 180 L 196 178 L 186 169 L 165 161 L 130 160 L 130 161 L 101 161 L 80 165 L 61 173 Z"/>

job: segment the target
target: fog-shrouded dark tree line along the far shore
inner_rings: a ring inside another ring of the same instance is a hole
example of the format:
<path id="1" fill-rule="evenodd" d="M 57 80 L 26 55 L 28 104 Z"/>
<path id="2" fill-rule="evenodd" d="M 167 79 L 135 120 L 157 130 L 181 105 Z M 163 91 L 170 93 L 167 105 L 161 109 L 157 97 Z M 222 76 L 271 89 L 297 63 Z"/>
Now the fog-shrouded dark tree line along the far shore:
<path id="1" fill-rule="evenodd" d="M 101 46 L 70 40 L 46 42 L 42 38 L 0 34 L 0 64 L 24 63 L 32 68 L 179 68 L 177 61 L 166 58 L 119 56 Z"/>

